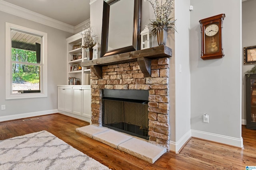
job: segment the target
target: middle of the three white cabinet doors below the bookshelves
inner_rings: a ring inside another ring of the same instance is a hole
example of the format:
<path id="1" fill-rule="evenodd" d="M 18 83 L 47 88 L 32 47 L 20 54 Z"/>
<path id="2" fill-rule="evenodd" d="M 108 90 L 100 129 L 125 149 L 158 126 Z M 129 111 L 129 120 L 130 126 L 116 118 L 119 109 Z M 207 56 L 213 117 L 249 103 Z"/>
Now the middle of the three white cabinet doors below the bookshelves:
<path id="1" fill-rule="evenodd" d="M 73 87 L 73 114 L 82 115 L 82 89 Z"/>

